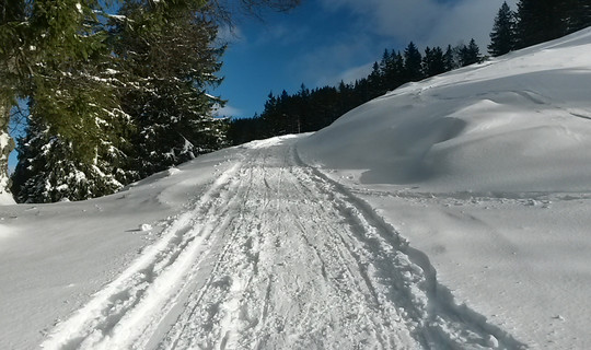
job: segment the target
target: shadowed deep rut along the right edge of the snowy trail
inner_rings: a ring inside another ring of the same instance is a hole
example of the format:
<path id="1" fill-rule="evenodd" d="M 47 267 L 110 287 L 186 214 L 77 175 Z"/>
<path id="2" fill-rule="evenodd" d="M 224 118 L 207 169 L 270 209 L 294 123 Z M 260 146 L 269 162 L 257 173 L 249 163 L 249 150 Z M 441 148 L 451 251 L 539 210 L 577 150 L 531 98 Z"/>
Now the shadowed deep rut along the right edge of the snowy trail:
<path id="1" fill-rule="evenodd" d="M 316 178 L 341 215 L 349 218 L 355 237 L 366 249 L 351 252 L 371 261 L 371 279 L 381 303 L 389 298 L 407 319 L 408 329 L 426 349 L 525 349 L 505 330 L 466 305 L 456 305 L 450 290 L 437 281 L 429 258 L 408 246 L 398 233 L 361 199 L 316 168 L 308 167 L 296 152 L 296 162 Z M 359 254 L 362 252 L 362 255 Z M 362 262 L 367 264 L 367 262 Z"/>

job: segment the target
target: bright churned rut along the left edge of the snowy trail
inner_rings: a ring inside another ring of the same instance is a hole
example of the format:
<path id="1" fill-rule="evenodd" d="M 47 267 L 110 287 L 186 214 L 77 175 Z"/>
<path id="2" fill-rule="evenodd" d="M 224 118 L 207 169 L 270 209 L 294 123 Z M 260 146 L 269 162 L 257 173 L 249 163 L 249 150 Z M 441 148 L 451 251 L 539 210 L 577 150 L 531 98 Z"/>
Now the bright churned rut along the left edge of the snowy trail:
<path id="1" fill-rule="evenodd" d="M 223 201 L 240 165 L 220 175 L 194 209 L 179 214 L 119 278 L 58 324 L 42 348 L 124 349 L 153 330 L 184 284 L 193 282 L 186 278 L 190 267 L 209 253 L 212 222 L 207 217 Z"/>

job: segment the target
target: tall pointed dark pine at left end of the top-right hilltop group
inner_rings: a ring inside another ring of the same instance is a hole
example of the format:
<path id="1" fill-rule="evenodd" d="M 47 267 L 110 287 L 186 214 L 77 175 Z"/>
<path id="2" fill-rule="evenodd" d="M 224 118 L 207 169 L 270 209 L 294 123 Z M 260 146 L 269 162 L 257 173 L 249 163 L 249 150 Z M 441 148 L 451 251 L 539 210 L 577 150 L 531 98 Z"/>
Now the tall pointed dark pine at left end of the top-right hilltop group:
<path id="1" fill-rule="evenodd" d="M 491 56 L 501 56 L 515 48 L 515 16 L 507 2 L 503 2 L 497 16 L 493 32 L 490 33 L 490 44 L 488 52 Z"/>

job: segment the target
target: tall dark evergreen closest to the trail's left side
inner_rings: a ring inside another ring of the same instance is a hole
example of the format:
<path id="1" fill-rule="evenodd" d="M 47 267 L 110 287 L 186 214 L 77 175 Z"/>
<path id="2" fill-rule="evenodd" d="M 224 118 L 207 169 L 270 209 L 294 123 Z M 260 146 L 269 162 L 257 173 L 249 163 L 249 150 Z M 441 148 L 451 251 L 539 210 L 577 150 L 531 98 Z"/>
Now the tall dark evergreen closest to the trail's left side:
<path id="1" fill-rule="evenodd" d="M 132 81 L 121 107 L 132 117 L 132 168 L 144 177 L 225 143 L 225 122 L 211 116 L 219 98 L 206 89 L 221 80 L 212 47 L 217 26 L 200 1 L 129 2 L 116 23 L 116 54 Z"/>

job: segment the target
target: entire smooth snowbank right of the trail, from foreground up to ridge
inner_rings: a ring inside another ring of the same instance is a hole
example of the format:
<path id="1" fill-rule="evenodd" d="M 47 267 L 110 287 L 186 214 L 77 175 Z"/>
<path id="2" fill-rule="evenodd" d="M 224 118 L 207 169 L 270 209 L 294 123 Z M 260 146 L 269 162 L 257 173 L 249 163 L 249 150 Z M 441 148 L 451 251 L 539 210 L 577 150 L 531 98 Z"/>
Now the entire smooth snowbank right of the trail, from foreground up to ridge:
<path id="1" fill-rule="evenodd" d="M 591 343 L 591 31 L 376 98 L 300 143 L 532 348 Z"/>

